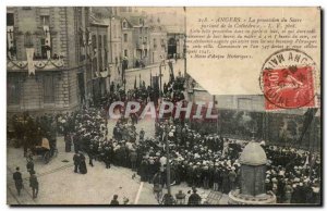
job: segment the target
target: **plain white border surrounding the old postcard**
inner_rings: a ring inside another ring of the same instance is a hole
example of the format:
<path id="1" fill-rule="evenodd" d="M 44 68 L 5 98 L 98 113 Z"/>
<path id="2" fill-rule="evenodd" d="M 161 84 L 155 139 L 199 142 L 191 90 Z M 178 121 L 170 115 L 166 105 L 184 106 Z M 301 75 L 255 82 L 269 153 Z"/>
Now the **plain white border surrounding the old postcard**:
<path id="1" fill-rule="evenodd" d="M 1 48 L 0 48 L 0 58 L 1 58 L 1 71 L 0 71 L 0 96 L 1 96 L 1 102 L 0 103 L 0 116 L 1 116 L 1 121 L 0 121 L 0 134 L 1 134 L 1 159 L 0 159 L 0 166 L 2 167 L 2 174 L 1 174 L 1 179 L 0 179 L 0 185 L 1 185 L 1 194 L 0 194 L 0 198 L 1 198 L 1 202 L 0 202 L 0 209 L 1 210 L 9 210 L 10 208 L 5 204 L 7 202 L 7 140 L 5 140 L 5 131 L 7 131 L 7 126 L 5 126 L 5 116 L 7 116 L 7 82 L 5 82 L 5 8 L 10 7 L 10 5 L 93 5 L 93 7 L 101 7 L 101 5 L 138 5 L 138 7 L 228 7 L 228 5 L 232 5 L 232 7 L 318 7 L 320 5 L 323 8 L 323 10 L 325 10 L 324 15 L 326 16 L 326 10 L 327 10 L 327 1 L 325 0 L 275 0 L 275 1 L 264 1 L 264 0 L 246 0 L 246 1 L 238 1 L 238 0 L 226 0 L 226 1 L 218 1 L 218 0 L 178 0 L 178 1 L 155 1 L 155 0 L 137 0 L 137 1 L 132 1 L 132 0 L 97 0 L 97 1 L 92 1 L 92 4 L 89 3 L 89 1 L 83 1 L 83 0 L 74 0 L 74 1 L 66 1 L 66 0 L 56 0 L 56 1 L 39 1 L 39 0 L 11 0 L 11 1 L 1 1 L 0 2 L 0 25 L 1 25 L 1 33 L 0 33 L 0 37 L 1 37 Z M 324 21 L 324 30 L 326 30 L 326 21 Z M 326 33 L 325 33 L 326 34 Z M 326 37 L 326 35 L 325 35 Z M 325 49 L 325 46 L 324 46 Z M 324 58 L 322 58 L 322 61 L 327 61 L 326 59 L 326 52 Z M 325 63 L 324 62 L 324 63 Z M 324 74 L 325 76 L 326 74 Z M 324 77 L 324 82 L 325 82 L 325 77 Z M 326 92 L 324 95 L 324 98 L 326 97 Z M 324 108 L 325 109 L 325 108 Z M 324 115 L 324 120 L 326 120 L 326 116 Z M 324 125 L 324 131 L 326 131 L 326 124 Z M 324 141 L 324 140 L 323 140 Z M 324 144 L 324 152 L 326 153 L 326 144 Z M 326 158 L 326 156 L 324 156 L 324 158 Z M 326 160 L 326 159 L 325 159 Z M 324 163 L 325 163 L 324 160 Z M 324 175 L 324 174 L 323 174 Z M 324 178 L 323 178 L 324 181 Z M 326 182 L 324 181 L 324 184 Z M 324 195 L 326 195 L 326 191 L 324 189 Z M 17 209 L 17 208 L 16 208 Z M 25 208 L 26 209 L 26 208 Z M 35 209 L 35 208 L 32 208 Z M 38 210 L 46 210 L 47 208 L 39 208 Z M 60 210 L 71 210 L 74 208 L 51 208 L 51 209 L 60 209 Z M 76 209 L 76 208 L 75 208 Z M 77 209 L 83 209 L 83 210 L 90 210 L 94 208 L 77 208 Z M 107 209 L 107 208 L 106 208 Z M 109 208 L 109 209 L 113 209 L 113 208 Z M 126 210 L 129 208 L 123 208 L 120 210 Z M 134 208 L 135 209 L 135 208 Z M 140 209 L 140 208 L 138 208 Z M 141 208 L 143 209 L 143 208 Z M 154 209 L 154 208 L 150 208 Z M 168 209 L 172 209 L 172 208 L 168 208 Z M 186 210 L 190 208 L 178 208 L 179 210 Z M 215 209 L 219 209 L 219 210 L 228 210 L 231 208 L 215 208 Z M 241 210 L 243 208 L 237 208 L 233 210 Z M 259 209 L 271 209 L 271 208 L 259 208 Z M 272 208 L 276 209 L 276 208 Z M 278 210 L 289 210 L 289 208 L 277 208 Z M 304 208 L 305 209 L 305 208 Z M 129 209 L 131 210 L 131 209 Z"/>

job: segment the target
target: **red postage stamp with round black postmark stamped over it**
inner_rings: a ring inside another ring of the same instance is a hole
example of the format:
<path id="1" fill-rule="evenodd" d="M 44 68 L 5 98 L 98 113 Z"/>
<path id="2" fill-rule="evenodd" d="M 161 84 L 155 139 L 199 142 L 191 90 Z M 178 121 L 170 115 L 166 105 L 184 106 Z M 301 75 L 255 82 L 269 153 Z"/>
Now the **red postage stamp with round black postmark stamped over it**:
<path id="1" fill-rule="evenodd" d="M 259 76 L 266 110 L 315 107 L 315 73 L 316 63 L 301 50 L 283 49 L 268 57 Z"/>

